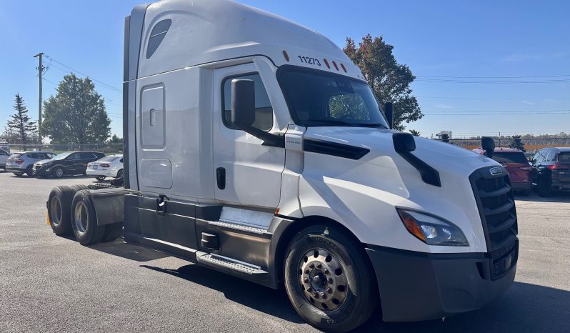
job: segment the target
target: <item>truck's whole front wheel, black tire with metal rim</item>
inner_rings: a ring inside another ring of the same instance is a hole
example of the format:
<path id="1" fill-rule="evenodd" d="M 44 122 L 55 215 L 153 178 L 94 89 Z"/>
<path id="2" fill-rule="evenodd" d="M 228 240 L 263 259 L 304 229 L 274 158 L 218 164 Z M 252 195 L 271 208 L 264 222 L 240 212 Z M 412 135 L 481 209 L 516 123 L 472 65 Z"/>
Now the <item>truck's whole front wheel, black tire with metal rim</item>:
<path id="1" fill-rule="evenodd" d="M 346 332 L 376 310 L 376 276 L 364 249 L 345 231 L 308 227 L 295 235 L 285 253 L 286 292 L 311 326 Z"/>

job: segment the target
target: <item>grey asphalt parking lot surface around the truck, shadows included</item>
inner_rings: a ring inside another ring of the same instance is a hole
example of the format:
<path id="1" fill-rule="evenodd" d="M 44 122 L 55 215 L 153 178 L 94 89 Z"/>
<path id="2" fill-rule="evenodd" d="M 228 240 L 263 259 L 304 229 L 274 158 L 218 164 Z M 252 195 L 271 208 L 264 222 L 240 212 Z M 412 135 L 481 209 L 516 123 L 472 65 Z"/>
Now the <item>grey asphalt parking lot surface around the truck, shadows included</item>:
<path id="1" fill-rule="evenodd" d="M 59 184 L 0 171 L 0 331 L 311 331 L 274 291 L 121 240 L 83 247 L 46 225 Z M 516 282 L 476 312 L 369 332 L 568 332 L 570 195 L 516 197 Z M 421 277 L 418 277 L 421 279 Z"/>

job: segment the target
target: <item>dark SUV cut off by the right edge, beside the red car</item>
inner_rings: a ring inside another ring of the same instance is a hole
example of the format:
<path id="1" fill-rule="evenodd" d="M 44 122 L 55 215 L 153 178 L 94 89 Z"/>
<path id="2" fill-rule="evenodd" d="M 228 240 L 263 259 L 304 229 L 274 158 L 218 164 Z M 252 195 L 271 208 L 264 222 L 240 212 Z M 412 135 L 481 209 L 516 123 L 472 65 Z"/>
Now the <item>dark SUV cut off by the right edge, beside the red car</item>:
<path id="1" fill-rule="evenodd" d="M 570 147 L 549 147 L 536 151 L 532 158 L 532 182 L 541 197 L 551 190 L 570 190 Z"/>

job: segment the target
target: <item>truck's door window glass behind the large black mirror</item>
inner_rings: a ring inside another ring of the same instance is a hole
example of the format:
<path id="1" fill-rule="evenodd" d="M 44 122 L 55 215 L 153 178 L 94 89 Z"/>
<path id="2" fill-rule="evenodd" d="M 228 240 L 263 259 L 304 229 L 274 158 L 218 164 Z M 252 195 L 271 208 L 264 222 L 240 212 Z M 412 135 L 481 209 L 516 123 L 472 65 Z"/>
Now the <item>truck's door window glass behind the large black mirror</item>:
<path id="1" fill-rule="evenodd" d="M 261 76 L 257 73 L 241 74 L 237 76 L 228 76 L 222 82 L 222 114 L 221 119 L 224 125 L 230 129 L 236 129 L 231 126 L 231 80 L 247 79 L 253 80 L 255 86 L 255 121 L 253 126 L 262 131 L 269 131 L 273 127 L 273 107 L 269 101 L 269 96 L 265 90 Z"/>

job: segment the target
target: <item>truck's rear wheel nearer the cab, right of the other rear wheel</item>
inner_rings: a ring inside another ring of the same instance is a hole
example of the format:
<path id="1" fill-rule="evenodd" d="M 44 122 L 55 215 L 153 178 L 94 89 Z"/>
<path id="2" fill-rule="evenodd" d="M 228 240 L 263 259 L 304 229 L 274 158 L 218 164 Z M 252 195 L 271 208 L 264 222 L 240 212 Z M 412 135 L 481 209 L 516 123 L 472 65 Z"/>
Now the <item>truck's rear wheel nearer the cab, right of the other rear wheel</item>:
<path id="1" fill-rule="evenodd" d="M 95 207 L 89 190 L 81 190 L 74 196 L 71 203 L 71 229 L 81 245 L 95 244 L 103 238 L 105 227 L 97 226 Z"/>

